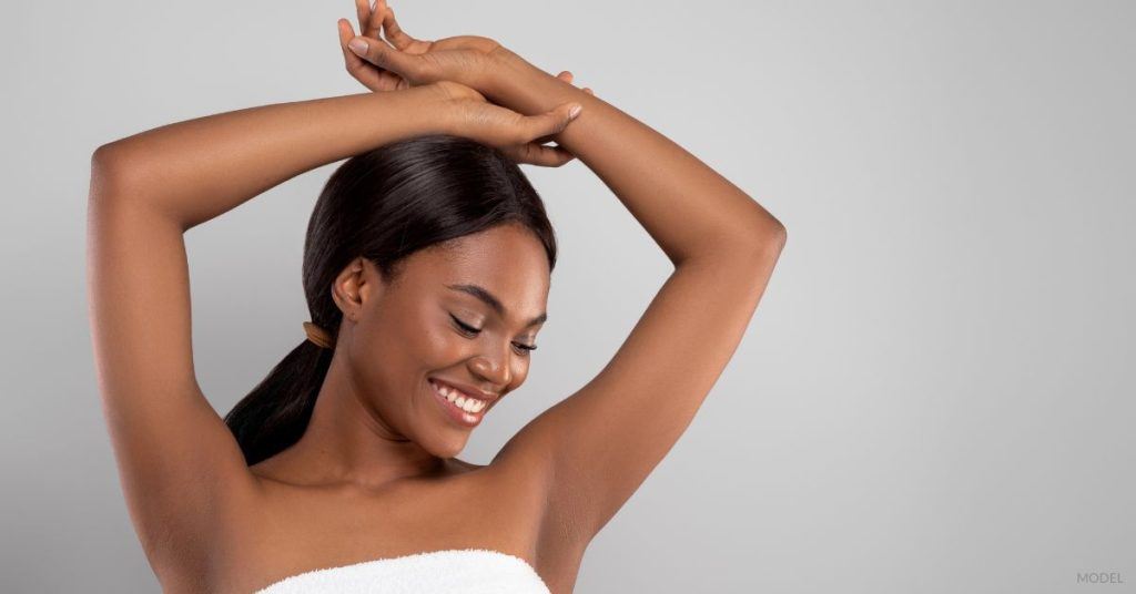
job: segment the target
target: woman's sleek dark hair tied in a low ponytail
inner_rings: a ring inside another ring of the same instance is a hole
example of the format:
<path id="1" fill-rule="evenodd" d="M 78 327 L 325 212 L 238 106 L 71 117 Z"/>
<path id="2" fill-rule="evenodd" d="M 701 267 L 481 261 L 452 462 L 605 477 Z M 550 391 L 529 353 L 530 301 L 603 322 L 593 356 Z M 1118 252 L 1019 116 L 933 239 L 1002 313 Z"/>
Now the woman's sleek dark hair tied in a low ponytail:
<path id="1" fill-rule="evenodd" d="M 418 250 L 510 221 L 540 239 L 551 270 L 557 242 L 544 203 L 499 150 L 435 134 L 348 159 L 327 181 L 308 221 L 303 291 L 311 321 L 334 338 L 343 313 L 331 286 L 351 260 L 367 258 L 393 282 L 400 262 Z M 225 416 L 249 466 L 303 435 L 332 352 L 304 340 Z"/>

